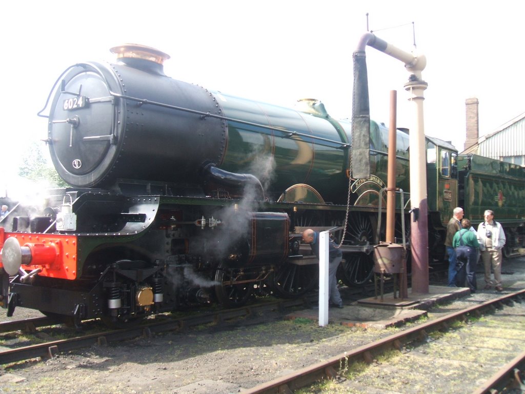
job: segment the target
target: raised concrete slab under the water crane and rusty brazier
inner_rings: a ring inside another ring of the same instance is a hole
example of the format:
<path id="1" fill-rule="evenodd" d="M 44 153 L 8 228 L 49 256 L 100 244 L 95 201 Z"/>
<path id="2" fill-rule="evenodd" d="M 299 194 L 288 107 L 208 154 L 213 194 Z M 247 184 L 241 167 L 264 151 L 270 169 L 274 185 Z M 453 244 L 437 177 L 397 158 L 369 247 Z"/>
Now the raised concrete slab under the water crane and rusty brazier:
<path id="1" fill-rule="evenodd" d="M 428 286 L 428 293 L 413 293 L 411 289 L 408 289 L 406 298 L 394 298 L 393 293 L 387 293 L 383 295 L 382 300 L 380 297 L 368 297 L 358 300 L 358 304 L 428 310 L 436 303 L 449 302 L 469 294 L 468 287 Z"/>

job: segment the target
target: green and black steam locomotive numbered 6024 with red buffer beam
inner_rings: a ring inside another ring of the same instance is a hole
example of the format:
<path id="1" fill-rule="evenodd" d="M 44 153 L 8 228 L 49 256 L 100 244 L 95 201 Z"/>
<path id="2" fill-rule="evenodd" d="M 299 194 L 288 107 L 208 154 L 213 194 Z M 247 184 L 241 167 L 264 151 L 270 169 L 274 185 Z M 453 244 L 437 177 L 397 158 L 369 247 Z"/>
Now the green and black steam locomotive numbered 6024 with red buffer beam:
<path id="1" fill-rule="evenodd" d="M 300 244 L 308 227 L 338 229 L 344 284 L 370 280 L 384 233 L 384 125 L 370 122 L 371 177 L 354 179 L 351 122 L 320 101 L 250 101 L 166 76 L 169 56 L 154 48 L 111 50 L 114 63 L 72 65 L 49 94 L 46 142 L 70 187 L 50 191 L 39 210 L 16 206 L 0 223 L 8 316 L 22 306 L 122 325 L 215 300 L 240 306 L 254 293 L 301 296 L 318 283 L 317 260 Z M 438 261 L 458 189 L 474 183 L 458 184 L 453 146 L 426 143 L 429 253 Z M 397 186 L 408 192 L 406 131 L 396 147 Z M 525 175 L 511 175 L 523 201 Z M 406 215 L 408 194 L 396 206 L 398 219 Z M 515 211 L 518 229 L 523 212 Z M 398 239 L 406 232 L 396 225 Z M 523 243 L 518 230 L 514 241 Z"/>

